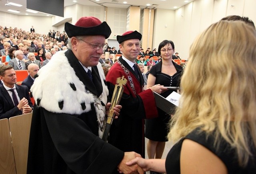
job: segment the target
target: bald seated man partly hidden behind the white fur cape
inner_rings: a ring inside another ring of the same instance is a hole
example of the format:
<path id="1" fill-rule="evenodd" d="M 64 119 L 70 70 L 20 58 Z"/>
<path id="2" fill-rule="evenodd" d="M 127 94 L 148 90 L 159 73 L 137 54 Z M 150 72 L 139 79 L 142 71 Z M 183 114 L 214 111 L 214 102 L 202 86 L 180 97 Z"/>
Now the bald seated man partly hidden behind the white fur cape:
<path id="1" fill-rule="evenodd" d="M 32 53 L 33 54 L 33 53 Z M 35 75 L 36 73 L 39 71 L 39 66 L 36 65 L 35 63 L 30 63 L 28 65 L 28 77 L 25 78 L 23 81 L 22 81 L 22 84 L 21 85 L 24 85 L 24 86 L 27 86 L 28 87 L 28 91 L 30 91 L 30 88 L 31 86 L 33 85 L 34 83 L 34 80 L 35 80 Z"/>

